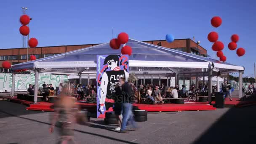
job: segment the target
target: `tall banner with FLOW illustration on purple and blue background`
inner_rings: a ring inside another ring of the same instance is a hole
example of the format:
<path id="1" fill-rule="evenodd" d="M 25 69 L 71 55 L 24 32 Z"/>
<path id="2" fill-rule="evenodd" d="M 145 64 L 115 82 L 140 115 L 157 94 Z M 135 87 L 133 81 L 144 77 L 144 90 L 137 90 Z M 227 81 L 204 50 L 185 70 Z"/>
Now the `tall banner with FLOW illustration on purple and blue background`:
<path id="1" fill-rule="evenodd" d="M 115 85 L 120 85 L 120 78 L 128 81 L 128 55 L 97 55 L 97 118 L 104 118 L 105 112 L 113 111 Z"/>

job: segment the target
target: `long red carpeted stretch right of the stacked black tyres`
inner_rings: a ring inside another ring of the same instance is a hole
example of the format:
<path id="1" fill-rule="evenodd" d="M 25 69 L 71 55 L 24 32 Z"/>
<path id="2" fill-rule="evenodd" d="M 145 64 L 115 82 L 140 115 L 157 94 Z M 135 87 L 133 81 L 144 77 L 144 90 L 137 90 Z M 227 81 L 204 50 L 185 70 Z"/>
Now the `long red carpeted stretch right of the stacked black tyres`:
<path id="1" fill-rule="evenodd" d="M 208 104 L 133 104 L 141 110 L 148 112 L 176 112 L 176 111 L 197 111 L 197 110 L 215 110 L 216 108 Z"/>

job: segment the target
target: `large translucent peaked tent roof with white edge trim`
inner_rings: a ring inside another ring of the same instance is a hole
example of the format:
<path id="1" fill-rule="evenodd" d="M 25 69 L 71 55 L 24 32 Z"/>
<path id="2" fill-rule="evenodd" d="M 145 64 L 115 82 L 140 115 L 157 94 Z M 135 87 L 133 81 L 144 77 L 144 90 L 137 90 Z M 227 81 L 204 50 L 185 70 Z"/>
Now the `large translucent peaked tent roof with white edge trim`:
<path id="1" fill-rule="evenodd" d="M 153 67 L 168 68 L 162 69 L 163 73 L 166 71 L 179 73 L 178 69 L 187 69 L 190 71 L 196 69 L 198 72 L 202 72 L 202 68 L 211 68 L 223 72 L 244 70 L 244 67 L 137 40 L 129 39 L 126 45 L 133 48 L 133 53 L 129 56 L 130 67 L 147 67 L 149 71 L 152 71 Z M 63 74 L 96 73 L 96 55 L 99 54 L 121 54 L 121 48 L 113 50 L 110 48 L 109 43 L 104 43 L 34 61 L 15 64 L 12 65 L 12 69 L 39 69 L 41 72 Z M 134 70 L 138 71 L 136 69 Z"/>

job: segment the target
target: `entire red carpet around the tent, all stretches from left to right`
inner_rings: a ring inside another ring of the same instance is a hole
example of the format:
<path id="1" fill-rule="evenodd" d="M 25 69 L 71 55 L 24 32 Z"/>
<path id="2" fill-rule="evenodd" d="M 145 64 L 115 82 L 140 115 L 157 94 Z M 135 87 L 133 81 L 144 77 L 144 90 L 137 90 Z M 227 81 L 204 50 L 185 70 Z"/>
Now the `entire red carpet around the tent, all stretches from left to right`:
<path id="1" fill-rule="evenodd" d="M 49 102 L 38 102 L 37 104 L 32 104 L 31 101 L 24 101 L 21 99 L 13 98 L 11 99 L 13 102 L 17 102 L 20 104 L 28 105 L 27 110 L 40 110 L 40 111 L 54 111 L 53 103 Z M 75 102 L 78 104 L 81 109 L 95 110 L 96 104 L 87 104 L 81 102 Z M 212 102 L 215 104 L 215 101 Z M 232 104 L 237 107 L 245 107 L 248 105 L 256 104 L 255 101 L 238 101 L 238 99 L 233 99 L 233 101 L 229 101 L 227 99 L 225 104 Z M 185 104 L 133 104 L 133 106 L 138 107 L 141 110 L 147 110 L 148 112 L 175 112 L 175 111 L 198 111 L 198 110 L 215 110 L 212 105 L 208 105 L 208 102 L 186 102 Z"/>

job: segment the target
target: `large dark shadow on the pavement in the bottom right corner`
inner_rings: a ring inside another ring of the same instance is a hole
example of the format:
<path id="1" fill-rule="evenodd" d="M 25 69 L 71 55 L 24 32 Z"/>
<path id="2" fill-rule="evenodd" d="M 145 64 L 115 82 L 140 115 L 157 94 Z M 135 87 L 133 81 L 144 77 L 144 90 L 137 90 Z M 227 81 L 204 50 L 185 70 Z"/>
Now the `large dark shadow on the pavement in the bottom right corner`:
<path id="1" fill-rule="evenodd" d="M 255 144 L 256 105 L 232 107 L 193 144 Z"/>

